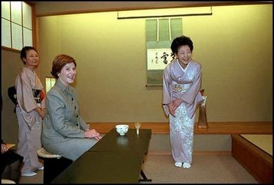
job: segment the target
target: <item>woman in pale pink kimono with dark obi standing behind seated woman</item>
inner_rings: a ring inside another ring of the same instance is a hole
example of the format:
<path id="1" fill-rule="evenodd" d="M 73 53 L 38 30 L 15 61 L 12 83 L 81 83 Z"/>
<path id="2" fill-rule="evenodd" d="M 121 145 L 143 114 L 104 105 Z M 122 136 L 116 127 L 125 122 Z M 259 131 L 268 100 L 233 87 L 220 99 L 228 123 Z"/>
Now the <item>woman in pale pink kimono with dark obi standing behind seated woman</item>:
<path id="1" fill-rule="evenodd" d="M 45 116 L 45 93 L 38 75 L 34 71 L 39 64 L 39 57 L 34 47 L 23 47 L 21 60 L 24 66 L 15 80 L 18 104 L 17 153 L 23 156 L 21 175 L 33 176 L 34 171 L 44 167 L 38 161 L 37 150 L 41 147 L 42 119 Z"/>

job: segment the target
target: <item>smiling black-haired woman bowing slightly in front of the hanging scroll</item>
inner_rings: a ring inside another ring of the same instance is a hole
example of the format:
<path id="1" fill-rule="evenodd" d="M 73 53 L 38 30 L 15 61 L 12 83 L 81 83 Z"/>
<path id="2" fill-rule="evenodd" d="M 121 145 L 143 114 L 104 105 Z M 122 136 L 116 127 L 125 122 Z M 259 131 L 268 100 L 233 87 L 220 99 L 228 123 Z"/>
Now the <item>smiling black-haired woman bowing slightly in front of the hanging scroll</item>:
<path id="1" fill-rule="evenodd" d="M 201 64 L 192 60 L 193 43 L 180 36 L 171 43 L 175 60 L 164 69 L 163 107 L 169 116 L 171 153 L 175 167 L 192 164 L 195 111 L 202 101 Z"/>

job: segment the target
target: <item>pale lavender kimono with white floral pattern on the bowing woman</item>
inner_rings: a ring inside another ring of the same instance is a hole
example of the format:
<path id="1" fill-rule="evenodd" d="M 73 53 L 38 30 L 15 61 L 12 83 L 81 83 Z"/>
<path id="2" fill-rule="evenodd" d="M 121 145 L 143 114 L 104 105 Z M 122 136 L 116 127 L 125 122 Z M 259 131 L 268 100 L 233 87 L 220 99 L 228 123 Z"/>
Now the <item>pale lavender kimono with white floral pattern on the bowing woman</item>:
<path id="1" fill-rule="evenodd" d="M 183 69 L 178 60 L 166 66 L 163 74 L 163 107 L 169 115 L 171 153 L 175 162 L 192 163 L 195 111 L 203 100 L 201 97 L 201 64 L 191 60 Z M 167 104 L 174 99 L 183 102 L 169 114 Z"/>

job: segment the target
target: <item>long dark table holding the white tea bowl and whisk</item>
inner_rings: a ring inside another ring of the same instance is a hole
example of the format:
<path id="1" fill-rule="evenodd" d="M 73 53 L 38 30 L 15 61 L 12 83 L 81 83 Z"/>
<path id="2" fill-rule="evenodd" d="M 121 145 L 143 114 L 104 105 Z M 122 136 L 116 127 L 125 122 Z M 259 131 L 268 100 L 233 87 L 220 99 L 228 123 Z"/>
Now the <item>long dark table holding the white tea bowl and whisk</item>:
<path id="1" fill-rule="evenodd" d="M 149 147 L 151 130 L 129 129 L 119 136 L 113 129 L 86 151 L 51 183 L 138 183 L 142 162 Z"/>

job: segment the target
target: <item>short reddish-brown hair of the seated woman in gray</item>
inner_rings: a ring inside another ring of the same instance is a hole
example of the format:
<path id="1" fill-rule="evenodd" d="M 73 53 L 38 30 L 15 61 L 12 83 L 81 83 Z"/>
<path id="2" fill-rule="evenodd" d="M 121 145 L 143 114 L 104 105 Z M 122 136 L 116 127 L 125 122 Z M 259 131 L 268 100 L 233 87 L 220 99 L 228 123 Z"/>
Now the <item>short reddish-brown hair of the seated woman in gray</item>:
<path id="1" fill-rule="evenodd" d="M 58 79 L 58 73 L 62 70 L 62 68 L 66 65 L 73 62 L 76 67 L 76 62 L 75 59 L 72 58 L 71 56 L 66 56 L 64 54 L 60 54 L 58 56 L 55 56 L 52 62 L 52 69 L 51 69 L 51 75 Z"/>

